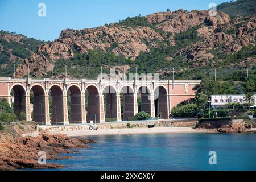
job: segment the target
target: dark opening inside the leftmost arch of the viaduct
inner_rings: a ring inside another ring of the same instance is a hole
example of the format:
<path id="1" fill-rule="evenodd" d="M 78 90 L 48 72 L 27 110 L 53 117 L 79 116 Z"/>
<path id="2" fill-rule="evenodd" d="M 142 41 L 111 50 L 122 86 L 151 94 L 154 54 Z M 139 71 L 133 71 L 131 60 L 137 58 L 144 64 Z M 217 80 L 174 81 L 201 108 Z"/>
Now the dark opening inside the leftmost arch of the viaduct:
<path id="1" fill-rule="evenodd" d="M 11 89 L 11 97 L 13 100 L 14 113 L 17 115 L 19 120 L 27 119 L 26 109 L 26 90 L 21 85 L 14 85 Z"/>

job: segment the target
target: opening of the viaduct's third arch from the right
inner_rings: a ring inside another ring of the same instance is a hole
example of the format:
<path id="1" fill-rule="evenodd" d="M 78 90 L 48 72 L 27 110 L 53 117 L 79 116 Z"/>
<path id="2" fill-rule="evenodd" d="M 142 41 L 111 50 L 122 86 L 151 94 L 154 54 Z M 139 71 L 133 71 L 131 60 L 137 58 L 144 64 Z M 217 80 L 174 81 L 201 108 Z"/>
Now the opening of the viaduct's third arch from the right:
<path id="1" fill-rule="evenodd" d="M 124 86 L 120 92 L 122 120 L 134 117 L 134 92 L 130 86 Z"/>

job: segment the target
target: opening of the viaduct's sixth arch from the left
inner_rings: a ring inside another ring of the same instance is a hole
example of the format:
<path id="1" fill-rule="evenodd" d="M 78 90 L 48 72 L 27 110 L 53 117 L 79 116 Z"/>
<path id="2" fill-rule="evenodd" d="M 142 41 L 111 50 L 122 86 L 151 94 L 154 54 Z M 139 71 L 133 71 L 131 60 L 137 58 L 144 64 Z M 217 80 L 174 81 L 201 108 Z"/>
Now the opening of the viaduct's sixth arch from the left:
<path id="1" fill-rule="evenodd" d="M 103 91 L 105 121 L 117 121 L 117 93 L 113 86 L 106 86 Z"/>

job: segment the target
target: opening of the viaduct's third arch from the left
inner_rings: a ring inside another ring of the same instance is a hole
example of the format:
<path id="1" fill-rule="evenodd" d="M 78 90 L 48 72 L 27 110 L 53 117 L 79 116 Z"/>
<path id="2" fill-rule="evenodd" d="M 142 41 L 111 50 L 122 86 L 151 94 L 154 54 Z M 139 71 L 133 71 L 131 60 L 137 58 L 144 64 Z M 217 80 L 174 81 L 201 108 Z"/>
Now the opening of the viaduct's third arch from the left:
<path id="1" fill-rule="evenodd" d="M 51 123 L 64 123 L 64 105 L 63 105 L 63 91 L 60 86 L 53 85 L 49 90 L 49 103 L 51 110 Z"/>

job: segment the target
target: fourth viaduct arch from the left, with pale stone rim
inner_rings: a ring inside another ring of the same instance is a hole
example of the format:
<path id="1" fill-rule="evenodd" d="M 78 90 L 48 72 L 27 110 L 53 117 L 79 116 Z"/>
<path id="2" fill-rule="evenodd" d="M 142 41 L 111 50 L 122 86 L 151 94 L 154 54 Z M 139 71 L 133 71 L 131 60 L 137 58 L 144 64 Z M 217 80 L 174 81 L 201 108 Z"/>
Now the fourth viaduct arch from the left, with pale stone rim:
<path id="1" fill-rule="evenodd" d="M 66 95 L 68 96 L 70 91 L 70 100 L 68 105 L 69 110 L 69 122 L 70 123 L 82 123 L 82 92 L 79 86 L 73 84 L 67 88 Z"/>

